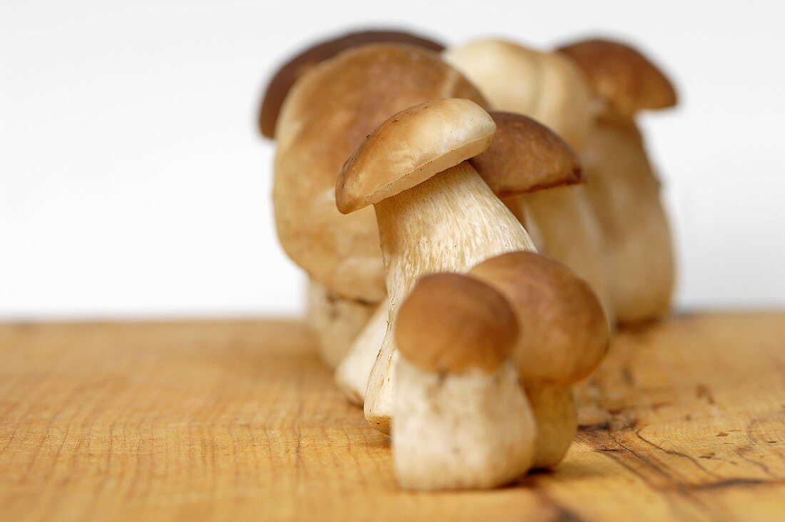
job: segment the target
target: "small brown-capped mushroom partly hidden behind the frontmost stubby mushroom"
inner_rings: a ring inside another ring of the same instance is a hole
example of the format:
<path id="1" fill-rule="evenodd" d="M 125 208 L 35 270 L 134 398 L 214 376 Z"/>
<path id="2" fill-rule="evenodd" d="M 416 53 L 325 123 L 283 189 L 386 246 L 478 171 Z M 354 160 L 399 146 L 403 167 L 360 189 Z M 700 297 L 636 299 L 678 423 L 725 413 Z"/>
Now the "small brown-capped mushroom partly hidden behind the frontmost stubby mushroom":
<path id="1" fill-rule="evenodd" d="M 532 252 L 492 257 L 469 276 L 498 290 L 517 316 L 515 360 L 539 432 L 534 466 L 553 467 L 578 427 L 571 385 L 588 377 L 608 349 L 602 306 L 567 267 Z"/>

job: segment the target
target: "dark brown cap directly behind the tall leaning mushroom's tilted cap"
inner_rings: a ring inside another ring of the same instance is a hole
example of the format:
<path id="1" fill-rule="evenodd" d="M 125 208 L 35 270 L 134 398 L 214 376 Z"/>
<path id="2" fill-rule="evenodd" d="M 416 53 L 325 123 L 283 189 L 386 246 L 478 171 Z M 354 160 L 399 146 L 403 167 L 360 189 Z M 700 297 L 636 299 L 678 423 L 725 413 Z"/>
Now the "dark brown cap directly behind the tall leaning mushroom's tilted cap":
<path id="1" fill-rule="evenodd" d="M 469 163 L 500 198 L 584 181 L 578 155 L 553 130 L 521 114 L 490 114 L 491 145 Z"/>

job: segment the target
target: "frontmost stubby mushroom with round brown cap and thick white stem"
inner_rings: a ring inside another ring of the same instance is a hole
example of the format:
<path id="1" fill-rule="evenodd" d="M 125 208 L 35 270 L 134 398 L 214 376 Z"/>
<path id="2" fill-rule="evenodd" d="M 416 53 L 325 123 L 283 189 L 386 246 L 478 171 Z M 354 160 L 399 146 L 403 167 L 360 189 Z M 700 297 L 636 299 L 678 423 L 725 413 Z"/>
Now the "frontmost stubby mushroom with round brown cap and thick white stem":
<path id="1" fill-rule="evenodd" d="M 531 465 L 535 420 L 510 357 L 515 313 L 479 280 L 434 274 L 396 321 L 392 457 L 401 487 L 488 488 Z"/>

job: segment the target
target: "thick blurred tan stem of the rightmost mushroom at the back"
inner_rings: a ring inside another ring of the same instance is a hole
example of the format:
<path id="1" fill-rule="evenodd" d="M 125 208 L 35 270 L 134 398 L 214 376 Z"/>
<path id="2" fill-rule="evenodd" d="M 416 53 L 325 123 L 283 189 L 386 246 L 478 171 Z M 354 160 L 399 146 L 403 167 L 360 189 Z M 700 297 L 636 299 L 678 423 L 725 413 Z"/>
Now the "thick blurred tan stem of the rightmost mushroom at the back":
<path id="1" fill-rule="evenodd" d="M 675 272 L 670 227 L 632 117 L 598 119 L 582 157 L 591 178 L 587 192 L 604 232 L 619 323 L 666 315 Z"/>

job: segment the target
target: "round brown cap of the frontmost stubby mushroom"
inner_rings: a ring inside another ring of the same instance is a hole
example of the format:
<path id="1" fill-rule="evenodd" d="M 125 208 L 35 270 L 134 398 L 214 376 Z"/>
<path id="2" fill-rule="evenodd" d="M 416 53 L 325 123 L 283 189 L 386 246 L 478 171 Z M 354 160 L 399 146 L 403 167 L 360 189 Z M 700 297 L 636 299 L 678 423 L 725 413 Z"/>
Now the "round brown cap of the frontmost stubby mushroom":
<path id="1" fill-rule="evenodd" d="M 420 279 L 396 319 L 396 345 L 425 371 L 492 373 L 518 337 L 515 312 L 478 279 L 442 273 Z"/>

